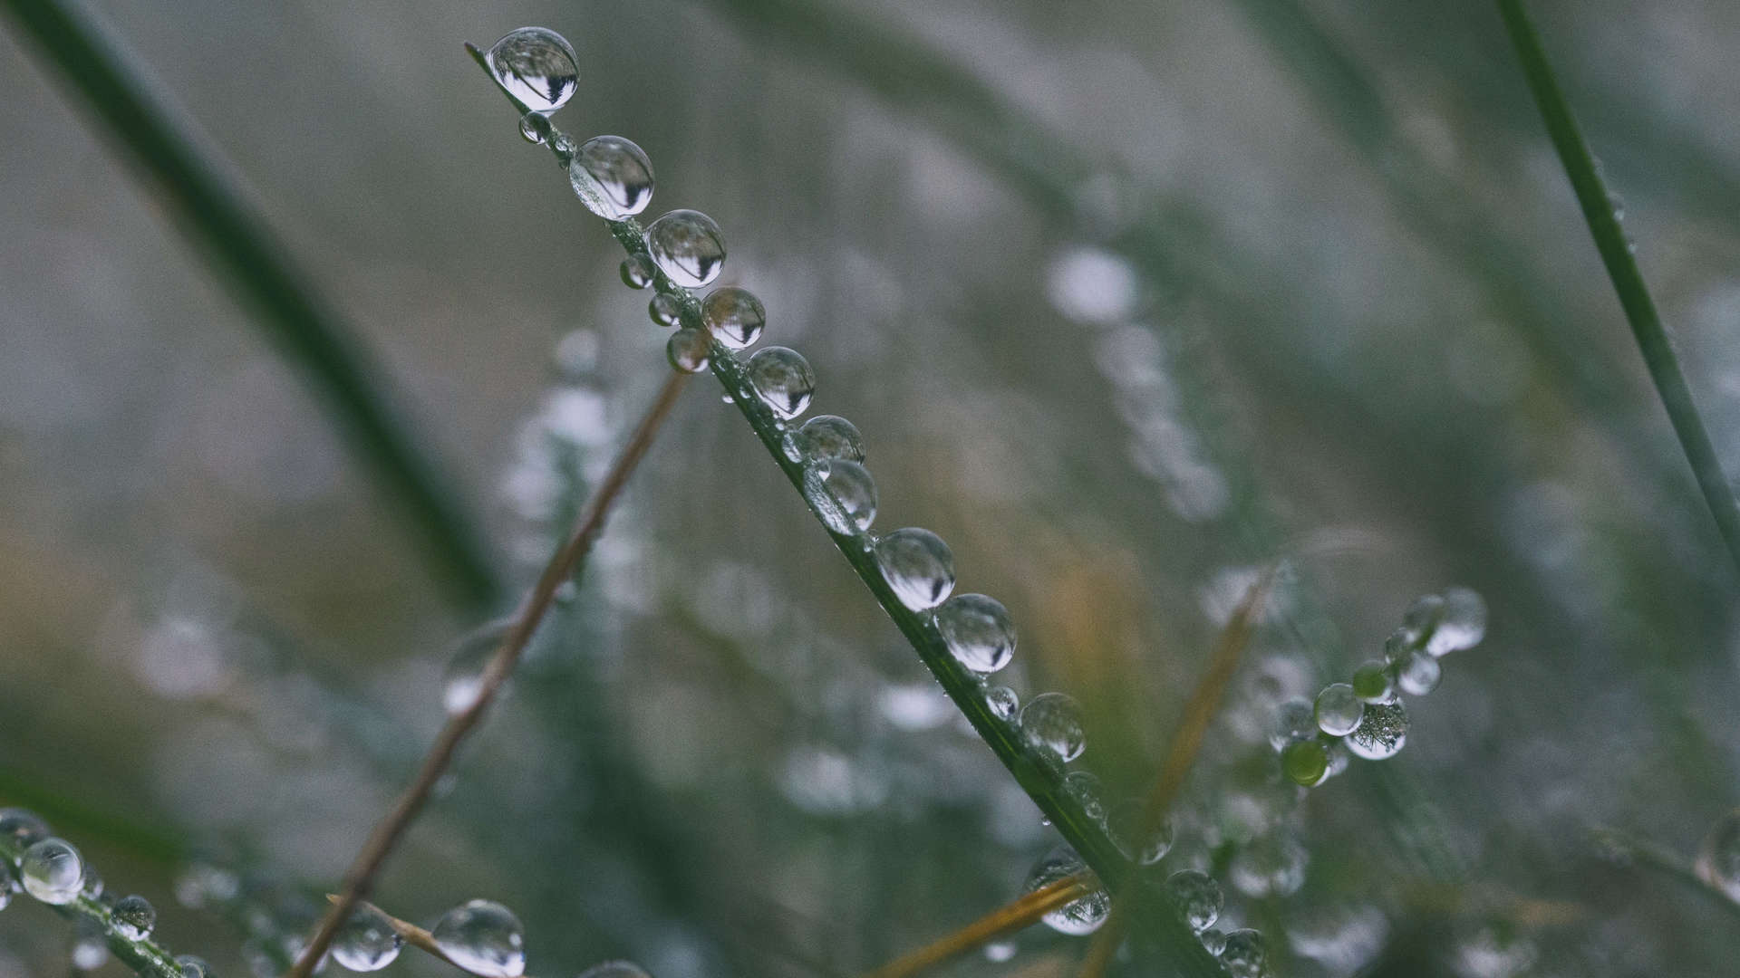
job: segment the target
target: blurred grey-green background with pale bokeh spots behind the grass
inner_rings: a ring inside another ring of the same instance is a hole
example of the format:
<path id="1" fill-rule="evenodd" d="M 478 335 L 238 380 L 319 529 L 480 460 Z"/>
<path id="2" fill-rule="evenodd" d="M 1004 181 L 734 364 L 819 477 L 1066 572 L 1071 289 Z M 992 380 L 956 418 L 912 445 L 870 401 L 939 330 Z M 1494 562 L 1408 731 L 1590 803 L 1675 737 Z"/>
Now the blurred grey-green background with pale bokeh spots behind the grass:
<path id="1" fill-rule="evenodd" d="M 461 52 L 536 23 L 581 56 L 557 125 L 646 148 L 649 214 L 719 219 L 764 345 L 865 432 L 877 527 L 941 533 L 959 590 L 1011 609 L 999 679 L 1082 701 L 1110 794 L 1288 559 L 1168 856 L 1303 863 L 1293 893 L 1223 877 L 1281 973 L 1733 973 L 1731 908 L 1589 837 L 1690 863 L 1740 802 L 1740 579 L 1489 5 L 90 9 L 341 310 L 512 586 L 666 369 L 618 245 Z M 1735 470 L 1740 7 L 1533 10 Z M 0 802 L 242 975 L 306 928 L 506 602 L 454 600 L 0 35 Z M 1270 804 L 1275 703 L 1453 583 L 1489 635 L 1406 750 Z M 545 976 L 851 975 L 1054 842 L 701 378 L 379 901 L 499 900 Z M 28 903 L 0 975 L 63 973 L 73 933 Z M 1074 975 L 1084 947 L 1035 928 L 941 973 Z"/>

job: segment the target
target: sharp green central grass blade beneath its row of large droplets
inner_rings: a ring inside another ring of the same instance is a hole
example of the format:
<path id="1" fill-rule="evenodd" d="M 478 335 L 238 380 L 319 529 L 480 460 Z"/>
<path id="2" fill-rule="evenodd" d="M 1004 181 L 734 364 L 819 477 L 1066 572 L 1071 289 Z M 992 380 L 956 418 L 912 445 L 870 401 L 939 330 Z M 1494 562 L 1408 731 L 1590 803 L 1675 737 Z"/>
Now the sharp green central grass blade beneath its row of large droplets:
<path id="1" fill-rule="evenodd" d="M 508 103 L 524 115 L 524 104 L 520 104 L 512 94 L 508 94 L 501 85 L 496 84 L 494 73 L 489 70 L 489 63 L 484 52 L 475 45 L 466 44 L 466 52 L 477 61 L 478 70 L 489 78 L 489 84 L 506 96 Z M 545 148 L 555 151 L 557 139 L 552 136 L 545 141 Z M 706 331 L 706 324 L 701 320 L 701 299 L 694 296 L 689 289 L 677 285 L 670 280 L 652 256 L 647 252 L 646 238 L 640 223 L 633 218 L 623 221 L 606 221 L 611 230 L 611 237 L 623 245 L 632 256 L 640 256 L 654 268 L 654 289 L 659 294 L 670 296 L 679 308 L 679 318 L 687 329 Z M 785 440 L 788 430 L 785 421 L 780 421 L 773 409 L 769 409 L 755 392 L 755 385 L 750 383 L 746 365 L 736 353 L 713 343 L 712 348 L 712 371 L 719 379 L 726 393 L 731 395 L 733 404 L 748 421 L 750 430 L 760 439 L 762 447 L 773 458 L 780 472 L 785 473 L 792 487 L 797 489 L 799 496 L 809 501 L 804 494 L 804 465 L 797 461 L 785 451 Z M 814 506 L 811 505 L 814 512 Z M 820 513 L 814 513 L 818 522 Z M 825 524 L 823 524 L 825 526 Z M 919 660 L 931 670 L 931 675 L 943 686 L 943 691 L 954 700 L 955 707 L 966 713 L 967 722 L 980 734 L 987 747 L 997 755 L 1002 766 L 1014 776 L 1016 783 L 1035 806 L 1051 820 L 1051 825 L 1058 830 L 1065 842 L 1068 842 L 1077 854 L 1088 863 L 1088 867 L 1100 875 L 1100 879 L 1108 886 L 1117 886 L 1131 872 L 1129 860 L 1117 851 L 1117 846 L 1107 835 L 1105 827 L 1101 827 L 1088 813 L 1082 811 L 1081 802 L 1077 802 L 1065 788 L 1061 769 L 1047 762 L 1039 754 L 1032 752 L 1020 736 L 1020 731 L 1011 724 L 997 719 L 992 713 L 990 705 L 985 701 L 983 684 L 978 677 L 969 673 L 966 667 L 955 661 L 948 646 L 943 642 L 941 633 L 936 628 L 936 621 L 929 613 L 912 611 L 900 602 L 894 590 L 889 586 L 887 579 L 882 578 L 882 569 L 875 562 L 872 546 L 856 536 L 846 536 L 828 531 L 833 545 L 839 548 L 846 562 L 851 564 L 858 578 L 870 588 L 877 604 L 884 613 L 894 621 L 901 635 L 912 644 L 912 649 L 919 654 Z M 1154 936 L 1159 945 L 1171 957 L 1168 962 L 1183 978 L 1208 978 L 1220 976 L 1225 971 L 1220 962 L 1215 961 L 1202 943 L 1190 933 L 1190 929 L 1176 915 L 1157 914 L 1152 921 Z"/>

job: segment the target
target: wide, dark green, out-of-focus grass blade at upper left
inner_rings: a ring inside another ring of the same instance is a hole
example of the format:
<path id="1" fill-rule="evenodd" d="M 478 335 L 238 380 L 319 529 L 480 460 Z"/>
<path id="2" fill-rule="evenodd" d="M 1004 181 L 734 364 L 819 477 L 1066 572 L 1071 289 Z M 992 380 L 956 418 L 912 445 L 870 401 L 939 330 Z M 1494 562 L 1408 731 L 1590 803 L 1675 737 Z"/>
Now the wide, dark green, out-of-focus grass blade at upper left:
<path id="1" fill-rule="evenodd" d="M 77 89 L 103 132 L 132 153 L 188 238 L 313 385 L 351 449 L 423 538 L 438 578 L 466 604 L 498 593 L 494 569 L 451 486 L 388 407 L 383 372 L 325 308 L 264 223 L 174 122 L 167 99 L 82 12 L 59 0 L 0 0 L 26 50 L 52 63 Z"/>

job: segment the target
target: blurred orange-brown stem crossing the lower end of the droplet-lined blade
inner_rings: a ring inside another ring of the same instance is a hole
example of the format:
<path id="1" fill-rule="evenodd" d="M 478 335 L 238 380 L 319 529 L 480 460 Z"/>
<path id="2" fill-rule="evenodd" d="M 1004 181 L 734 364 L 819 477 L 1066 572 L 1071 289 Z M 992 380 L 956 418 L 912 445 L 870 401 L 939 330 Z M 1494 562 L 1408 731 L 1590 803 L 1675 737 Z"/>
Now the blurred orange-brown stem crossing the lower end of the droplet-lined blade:
<path id="1" fill-rule="evenodd" d="M 1190 762 L 1202 750 L 1202 736 L 1220 710 L 1220 701 L 1227 694 L 1232 673 L 1239 670 L 1244 647 L 1251 642 L 1256 613 L 1268 599 L 1268 588 L 1274 586 L 1277 571 L 1279 566 L 1275 564 L 1270 564 L 1263 571 L 1263 576 L 1251 585 L 1244 593 L 1244 600 L 1239 602 L 1232 618 L 1227 620 L 1227 626 L 1221 628 L 1220 640 L 1215 642 L 1215 654 L 1208 663 L 1208 672 L 1197 680 L 1195 689 L 1190 693 L 1190 701 L 1185 703 L 1185 715 L 1178 720 L 1178 731 L 1173 734 L 1173 745 L 1166 752 L 1161 776 L 1155 778 L 1154 790 L 1148 794 L 1141 818 L 1143 837 L 1159 830 L 1166 820 L 1166 813 L 1173 807 L 1173 800 L 1178 799 L 1178 788 L 1185 783 Z M 1100 933 L 1094 934 L 1093 945 L 1088 948 L 1088 959 L 1082 961 L 1081 978 L 1101 978 L 1107 968 L 1112 966 L 1117 941 L 1124 936 L 1124 928 L 1129 924 L 1129 905 L 1131 901 L 1124 894 L 1117 894 L 1112 900 L 1112 912 L 1107 915 Z"/>

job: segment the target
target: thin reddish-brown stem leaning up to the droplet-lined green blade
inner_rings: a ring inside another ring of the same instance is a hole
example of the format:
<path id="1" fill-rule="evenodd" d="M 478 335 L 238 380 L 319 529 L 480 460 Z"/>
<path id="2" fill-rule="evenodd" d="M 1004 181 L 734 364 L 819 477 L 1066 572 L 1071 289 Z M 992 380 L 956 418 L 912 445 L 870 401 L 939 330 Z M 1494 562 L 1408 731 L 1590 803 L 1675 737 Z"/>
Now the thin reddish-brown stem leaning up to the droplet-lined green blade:
<path id="1" fill-rule="evenodd" d="M 564 543 L 555 555 L 550 557 L 550 564 L 546 564 L 543 574 L 538 576 L 538 583 L 532 585 L 531 593 L 520 602 L 520 609 L 513 616 L 513 626 L 508 628 L 506 637 L 501 640 L 501 647 L 496 649 L 494 658 L 489 660 L 489 667 L 484 670 L 484 677 L 478 682 L 477 700 L 473 700 L 465 710 L 447 719 L 447 726 L 442 727 L 435 743 L 430 747 L 428 755 L 423 759 L 423 769 L 418 771 L 411 787 L 398 795 L 398 800 L 393 804 L 393 809 L 386 813 L 386 818 L 383 818 L 379 825 L 374 827 L 374 832 L 369 834 L 369 841 L 364 842 L 362 851 L 357 853 L 357 860 L 350 867 L 350 872 L 345 874 L 345 893 L 332 903 L 332 908 L 320 921 L 320 928 L 315 931 L 313 940 L 308 941 L 308 948 L 296 961 L 296 966 L 285 973 L 285 978 L 308 978 L 308 975 L 313 973 L 315 962 L 320 961 L 320 955 L 324 955 L 332 945 L 332 936 L 338 933 L 339 924 L 343 924 L 350 912 L 357 907 L 357 901 L 369 894 L 374 886 L 374 877 L 381 872 L 381 865 L 386 863 L 386 856 L 392 854 L 405 830 L 411 828 L 418 813 L 423 811 L 423 804 L 428 802 L 430 792 L 435 790 L 435 781 L 438 781 L 447 771 L 447 766 L 452 762 L 454 754 L 458 754 L 459 745 L 472 733 L 472 729 L 477 727 L 478 720 L 484 719 L 489 705 L 501 691 L 501 684 L 513 673 L 513 667 L 519 663 L 520 653 L 525 651 L 525 644 L 538 630 L 545 613 L 550 611 L 557 588 L 581 569 L 586 553 L 592 552 L 592 545 L 599 538 L 599 531 L 604 529 L 604 519 L 609 515 L 611 505 L 621 494 L 628 477 L 652 445 L 652 437 L 670 414 L 670 409 L 677 404 L 677 395 L 682 393 L 682 385 L 687 379 L 689 374 L 672 372 L 670 379 L 665 381 L 665 386 L 659 390 L 652 407 L 647 409 L 640 425 L 635 428 L 633 435 L 630 435 L 628 444 L 623 445 L 623 452 L 616 456 L 614 463 L 611 463 L 611 470 L 606 473 L 604 482 L 600 482 L 592 498 L 586 499 L 586 508 L 581 510 L 579 519 L 574 522 L 574 531 L 567 538 L 567 543 Z"/>

